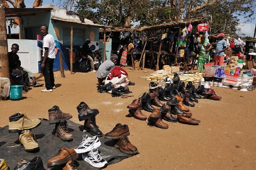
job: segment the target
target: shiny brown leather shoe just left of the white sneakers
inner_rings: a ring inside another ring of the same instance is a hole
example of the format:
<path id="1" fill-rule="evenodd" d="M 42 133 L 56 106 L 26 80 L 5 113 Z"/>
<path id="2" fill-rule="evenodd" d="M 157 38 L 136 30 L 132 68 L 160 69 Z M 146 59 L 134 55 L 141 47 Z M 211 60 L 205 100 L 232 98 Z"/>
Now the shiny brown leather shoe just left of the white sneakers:
<path id="1" fill-rule="evenodd" d="M 47 167 L 66 164 L 69 160 L 76 160 L 77 158 L 78 155 L 73 148 L 62 148 L 58 151 L 58 154 L 56 156 L 48 160 Z"/>

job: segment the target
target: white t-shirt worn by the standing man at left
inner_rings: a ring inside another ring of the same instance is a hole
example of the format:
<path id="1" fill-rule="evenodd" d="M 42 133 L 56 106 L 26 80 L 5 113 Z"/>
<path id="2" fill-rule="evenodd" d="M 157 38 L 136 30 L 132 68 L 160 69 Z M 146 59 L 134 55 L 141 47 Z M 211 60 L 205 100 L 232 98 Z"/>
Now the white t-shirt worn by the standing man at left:
<path id="1" fill-rule="evenodd" d="M 43 39 L 43 56 L 44 56 L 44 47 L 49 48 L 49 53 L 48 56 L 49 58 L 55 58 L 55 43 L 54 43 L 54 38 L 50 33 L 48 33 L 46 36 L 44 36 Z"/>

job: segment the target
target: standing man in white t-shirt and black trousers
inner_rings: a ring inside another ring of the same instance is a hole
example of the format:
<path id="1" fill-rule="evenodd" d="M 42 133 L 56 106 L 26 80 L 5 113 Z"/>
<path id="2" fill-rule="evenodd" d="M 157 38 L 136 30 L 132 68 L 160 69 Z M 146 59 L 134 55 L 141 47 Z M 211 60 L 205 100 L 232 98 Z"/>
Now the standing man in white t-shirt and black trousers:
<path id="1" fill-rule="evenodd" d="M 53 75 L 53 62 L 55 58 L 55 43 L 54 38 L 48 33 L 48 26 L 42 25 L 40 31 L 44 36 L 43 39 L 43 61 L 41 64 L 41 70 L 43 71 L 45 89 L 42 92 L 52 92 L 55 89 L 54 75 Z"/>

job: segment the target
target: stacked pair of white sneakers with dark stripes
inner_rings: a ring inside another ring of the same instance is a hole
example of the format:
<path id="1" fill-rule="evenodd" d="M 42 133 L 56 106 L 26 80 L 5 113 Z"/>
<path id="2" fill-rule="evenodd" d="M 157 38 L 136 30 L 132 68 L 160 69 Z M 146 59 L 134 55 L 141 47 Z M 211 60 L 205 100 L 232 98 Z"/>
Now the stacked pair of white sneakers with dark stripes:
<path id="1" fill-rule="evenodd" d="M 96 168 L 102 168 L 107 165 L 107 161 L 103 159 L 97 149 L 101 142 L 97 136 L 90 138 L 87 134 L 83 135 L 80 145 L 75 148 L 77 154 L 82 154 L 83 160 Z"/>

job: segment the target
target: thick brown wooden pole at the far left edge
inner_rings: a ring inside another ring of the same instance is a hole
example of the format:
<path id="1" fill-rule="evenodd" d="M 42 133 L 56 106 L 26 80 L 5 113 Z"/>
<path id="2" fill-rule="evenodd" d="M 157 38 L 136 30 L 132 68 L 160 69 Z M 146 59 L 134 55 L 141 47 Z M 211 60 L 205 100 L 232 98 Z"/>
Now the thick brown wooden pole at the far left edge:
<path id="1" fill-rule="evenodd" d="M 7 31 L 4 1 L 0 0 L 0 78 L 9 78 Z"/>

